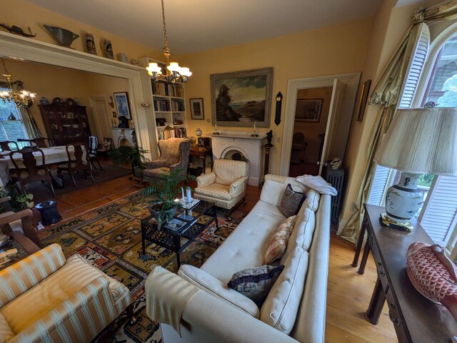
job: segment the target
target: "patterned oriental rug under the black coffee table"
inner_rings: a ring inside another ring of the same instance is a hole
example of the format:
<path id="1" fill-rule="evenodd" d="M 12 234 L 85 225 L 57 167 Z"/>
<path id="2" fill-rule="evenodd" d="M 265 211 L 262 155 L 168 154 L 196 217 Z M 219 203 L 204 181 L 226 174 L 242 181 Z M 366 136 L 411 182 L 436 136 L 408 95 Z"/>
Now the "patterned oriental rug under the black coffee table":
<path id="1" fill-rule="evenodd" d="M 137 322 L 124 324 L 114 338 L 99 342 L 161 342 L 159 324 L 145 313 L 144 283 L 154 265 L 177 272 L 176 254 L 147 241 L 146 254 L 142 252 L 140 221 L 149 216 L 150 201 L 151 198 L 133 193 L 39 232 L 44 245 L 58 243 L 67 258 L 77 253 L 129 288 Z M 211 223 L 181 252 L 181 264 L 203 265 L 245 216 L 246 213 L 235 210 L 229 221 L 226 210 L 218 208 L 219 230 L 216 221 Z"/>

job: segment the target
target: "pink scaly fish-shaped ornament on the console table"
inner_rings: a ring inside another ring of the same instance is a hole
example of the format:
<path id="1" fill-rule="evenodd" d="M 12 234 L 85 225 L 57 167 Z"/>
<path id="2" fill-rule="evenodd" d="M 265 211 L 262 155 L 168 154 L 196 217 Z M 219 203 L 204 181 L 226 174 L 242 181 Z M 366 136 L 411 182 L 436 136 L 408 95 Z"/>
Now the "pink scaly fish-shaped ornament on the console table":
<path id="1" fill-rule="evenodd" d="M 443 247 L 416 242 L 408 247 L 409 280 L 428 300 L 443 304 L 457 320 L 457 267 Z"/>

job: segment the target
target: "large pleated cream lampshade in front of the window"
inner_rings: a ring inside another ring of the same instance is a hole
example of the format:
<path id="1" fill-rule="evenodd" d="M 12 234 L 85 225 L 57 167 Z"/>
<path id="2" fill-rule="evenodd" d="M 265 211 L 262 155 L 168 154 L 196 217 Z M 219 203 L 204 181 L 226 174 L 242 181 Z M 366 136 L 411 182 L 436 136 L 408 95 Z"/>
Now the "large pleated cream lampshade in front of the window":
<path id="1" fill-rule="evenodd" d="M 374 161 L 405 173 L 457 175 L 457 108 L 398 109 Z"/>

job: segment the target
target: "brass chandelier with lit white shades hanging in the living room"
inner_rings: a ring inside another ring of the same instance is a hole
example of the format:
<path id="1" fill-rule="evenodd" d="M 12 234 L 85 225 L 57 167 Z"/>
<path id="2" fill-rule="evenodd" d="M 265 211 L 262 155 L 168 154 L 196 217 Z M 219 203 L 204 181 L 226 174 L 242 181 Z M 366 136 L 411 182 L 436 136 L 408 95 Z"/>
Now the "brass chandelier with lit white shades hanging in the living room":
<path id="1" fill-rule="evenodd" d="M 177 62 L 170 63 L 170 49 L 169 43 L 166 38 L 166 25 L 165 25 L 165 9 L 164 9 L 164 0 L 162 0 L 162 21 L 164 22 L 164 56 L 166 59 L 166 74 L 162 73 L 162 68 L 157 63 L 149 63 L 149 66 L 146 67 L 149 75 L 152 76 L 154 81 L 156 80 L 165 80 L 171 83 L 176 81 L 186 82 L 187 78 L 192 75 L 192 72 L 189 68 L 181 67 Z"/>

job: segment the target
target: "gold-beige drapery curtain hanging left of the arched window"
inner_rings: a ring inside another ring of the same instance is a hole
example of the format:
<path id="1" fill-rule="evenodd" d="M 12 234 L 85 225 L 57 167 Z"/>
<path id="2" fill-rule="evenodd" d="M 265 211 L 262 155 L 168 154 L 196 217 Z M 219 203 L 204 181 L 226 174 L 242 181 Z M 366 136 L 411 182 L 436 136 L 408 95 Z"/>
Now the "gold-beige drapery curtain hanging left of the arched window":
<path id="1" fill-rule="evenodd" d="M 405 36 L 401 40 L 400 46 L 396 49 L 391 61 L 379 78 L 373 93 L 371 94 L 370 104 L 380 105 L 378 117 L 371 134 L 370 145 L 368 146 L 368 160 L 361 181 L 361 188 L 358 191 L 356 210 L 348 220 L 346 226 L 339 232 L 341 237 L 351 242 L 357 242 L 363 220 L 363 204 L 368 200 L 376 163 L 373 162 L 374 155 L 378 150 L 383 135 L 390 125 L 393 113 L 395 113 L 397 103 L 401 98 L 401 88 L 408 75 L 408 63 L 413 54 L 421 23 L 431 24 L 441 20 L 457 19 L 457 1 L 432 6 L 429 9 L 419 9 L 413 14 L 413 24 L 410 26 Z"/>

